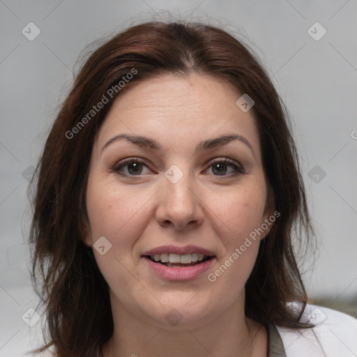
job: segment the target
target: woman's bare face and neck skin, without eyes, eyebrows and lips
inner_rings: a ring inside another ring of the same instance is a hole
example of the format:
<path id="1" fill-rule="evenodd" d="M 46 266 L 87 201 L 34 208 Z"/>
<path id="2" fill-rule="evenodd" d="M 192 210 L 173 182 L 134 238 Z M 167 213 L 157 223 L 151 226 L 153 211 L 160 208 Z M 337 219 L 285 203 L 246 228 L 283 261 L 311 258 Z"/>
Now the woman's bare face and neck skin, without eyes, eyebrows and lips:
<path id="1" fill-rule="evenodd" d="M 273 213 L 255 118 L 237 107 L 240 96 L 215 77 L 162 75 L 123 92 L 107 114 L 93 145 L 84 237 L 88 246 L 101 236 L 112 244 L 105 255 L 93 249 L 114 319 L 103 356 L 266 356 L 265 328 L 244 314 L 244 286 L 271 226 L 215 282 L 207 278 Z M 123 133 L 155 139 L 162 151 L 126 139 L 102 150 Z M 245 137 L 252 151 L 234 140 L 194 153 L 199 142 L 232 133 Z M 123 167 L 127 177 L 121 176 L 112 167 L 126 158 L 146 163 L 137 171 Z M 217 173 L 213 159 L 225 158 L 244 172 L 234 175 L 223 165 Z M 177 183 L 165 177 L 172 165 L 183 172 Z M 163 280 L 142 255 L 167 244 L 198 245 L 212 250 L 215 260 L 194 280 Z M 165 319 L 172 308 L 182 317 L 176 326 Z"/>

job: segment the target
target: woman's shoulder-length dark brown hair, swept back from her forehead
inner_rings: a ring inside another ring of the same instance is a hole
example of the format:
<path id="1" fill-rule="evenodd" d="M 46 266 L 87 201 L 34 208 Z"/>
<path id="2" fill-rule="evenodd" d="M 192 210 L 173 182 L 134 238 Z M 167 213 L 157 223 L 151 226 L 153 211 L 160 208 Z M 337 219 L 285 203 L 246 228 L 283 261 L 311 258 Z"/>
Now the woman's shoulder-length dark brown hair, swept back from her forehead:
<path id="1" fill-rule="evenodd" d="M 259 247 L 245 287 L 245 313 L 263 324 L 310 326 L 300 321 L 307 295 L 293 249 L 293 241 L 299 244 L 312 232 L 296 147 L 287 111 L 259 59 L 247 48 L 214 26 L 148 22 L 114 36 L 84 63 L 54 121 L 37 180 L 33 179 L 31 276 L 45 307 L 48 333 L 47 344 L 36 352 L 54 347 L 56 357 L 88 357 L 112 336 L 108 285 L 93 251 L 81 239 L 91 149 L 116 96 L 164 73 L 219 77 L 255 100 L 252 110 L 266 181 L 281 215 Z M 134 72 L 125 86 L 118 85 Z M 88 116 L 113 87 L 117 90 L 109 102 Z M 301 312 L 290 310 L 287 301 L 300 302 Z"/>

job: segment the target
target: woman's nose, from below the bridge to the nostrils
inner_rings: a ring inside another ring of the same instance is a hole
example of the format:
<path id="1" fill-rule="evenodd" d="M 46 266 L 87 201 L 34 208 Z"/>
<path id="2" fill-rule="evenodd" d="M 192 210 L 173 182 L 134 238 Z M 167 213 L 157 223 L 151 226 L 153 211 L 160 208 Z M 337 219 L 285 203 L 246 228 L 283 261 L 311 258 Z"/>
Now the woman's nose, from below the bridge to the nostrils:
<path id="1" fill-rule="evenodd" d="M 204 222 L 204 204 L 195 185 L 185 179 L 172 183 L 165 179 L 155 218 L 161 227 L 178 231 L 193 229 Z M 196 191 L 196 192 L 195 192 Z"/>

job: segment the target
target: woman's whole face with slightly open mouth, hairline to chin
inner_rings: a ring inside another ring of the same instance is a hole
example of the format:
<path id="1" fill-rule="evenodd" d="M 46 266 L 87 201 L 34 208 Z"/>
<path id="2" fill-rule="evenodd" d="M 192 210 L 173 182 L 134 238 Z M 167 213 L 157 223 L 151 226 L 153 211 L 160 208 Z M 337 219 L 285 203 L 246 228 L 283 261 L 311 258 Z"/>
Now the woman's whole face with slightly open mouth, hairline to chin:
<path id="1" fill-rule="evenodd" d="M 214 77 L 162 75 L 114 102 L 93 145 L 85 236 L 113 312 L 199 326 L 244 304 L 271 211 L 240 97 Z"/>

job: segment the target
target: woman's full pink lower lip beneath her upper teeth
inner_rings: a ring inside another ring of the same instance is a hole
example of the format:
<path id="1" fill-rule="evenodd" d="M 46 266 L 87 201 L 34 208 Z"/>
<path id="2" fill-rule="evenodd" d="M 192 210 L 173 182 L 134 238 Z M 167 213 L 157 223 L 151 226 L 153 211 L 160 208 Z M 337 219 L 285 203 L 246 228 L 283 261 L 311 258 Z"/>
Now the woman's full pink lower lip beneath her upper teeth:
<path id="1" fill-rule="evenodd" d="M 203 263 L 196 264 L 193 266 L 183 266 L 183 267 L 174 267 L 174 266 L 165 266 L 160 263 L 155 263 L 149 258 L 144 257 L 144 259 L 148 262 L 150 268 L 156 275 L 159 275 L 160 278 L 164 278 L 167 280 L 192 280 L 199 275 L 202 275 L 205 271 L 208 270 L 209 266 L 211 266 L 214 258 L 208 259 Z"/>

